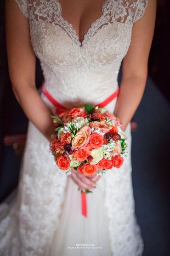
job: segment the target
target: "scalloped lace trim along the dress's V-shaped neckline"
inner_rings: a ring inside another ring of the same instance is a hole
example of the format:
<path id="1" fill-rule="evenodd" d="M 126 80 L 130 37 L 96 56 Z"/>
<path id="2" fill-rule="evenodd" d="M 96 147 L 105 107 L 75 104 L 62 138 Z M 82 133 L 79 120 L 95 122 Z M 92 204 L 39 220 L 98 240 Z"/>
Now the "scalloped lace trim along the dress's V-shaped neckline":
<path id="1" fill-rule="evenodd" d="M 102 7 L 101 7 L 101 10 L 102 10 L 102 14 L 99 18 L 97 18 L 95 21 L 91 22 L 91 26 L 89 27 L 89 29 L 87 30 L 87 32 L 85 33 L 84 35 L 84 38 L 83 38 L 83 41 L 80 42 L 80 39 L 79 39 L 79 36 L 77 35 L 76 33 L 76 30 L 74 30 L 73 28 L 73 24 L 69 23 L 67 21 L 67 19 L 63 18 L 62 17 L 62 5 L 60 3 L 59 0 L 57 0 L 59 6 L 60 6 L 60 18 L 62 19 L 62 23 L 63 24 L 66 24 L 67 27 L 69 28 L 69 31 L 68 34 L 72 37 L 72 40 L 80 47 L 82 48 L 84 45 L 85 45 L 85 42 L 88 42 L 89 40 L 89 37 L 94 33 L 94 31 L 96 31 L 96 24 L 99 22 L 100 23 L 100 20 L 102 20 L 102 17 L 104 16 L 104 6 L 106 4 L 108 0 L 104 0 L 103 3 L 102 3 Z M 95 28 L 95 30 L 94 30 Z"/>

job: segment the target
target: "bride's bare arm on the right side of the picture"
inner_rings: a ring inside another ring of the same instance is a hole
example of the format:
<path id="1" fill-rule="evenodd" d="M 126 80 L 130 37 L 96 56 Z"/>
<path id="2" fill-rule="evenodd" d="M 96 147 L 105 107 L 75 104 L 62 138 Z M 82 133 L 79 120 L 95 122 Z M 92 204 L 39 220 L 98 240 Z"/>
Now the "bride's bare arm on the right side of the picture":
<path id="1" fill-rule="evenodd" d="M 144 15 L 133 25 L 130 48 L 123 60 L 122 80 L 114 114 L 123 124 L 124 131 L 144 93 L 155 16 L 156 0 L 149 0 Z"/>

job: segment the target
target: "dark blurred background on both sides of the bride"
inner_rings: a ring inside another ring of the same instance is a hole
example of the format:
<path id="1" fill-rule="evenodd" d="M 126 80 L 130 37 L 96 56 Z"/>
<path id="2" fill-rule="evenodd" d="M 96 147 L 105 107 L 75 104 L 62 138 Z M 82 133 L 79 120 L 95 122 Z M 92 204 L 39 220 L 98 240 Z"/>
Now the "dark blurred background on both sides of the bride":
<path id="1" fill-rule="evenodd" d="M 119 81 L 121 79 L 121 71 Z M 36 84 L 43 80 L 36 65 Z M 143 256 L 170 256 L 170 1 L 157 1 L 146 89 L 132 122 L 132 179 Z M 136 127 L 137 124 L 137 127 Z M 0 202 L 17 187 L 28 120 L 8 76 L 0 1 Z"/>

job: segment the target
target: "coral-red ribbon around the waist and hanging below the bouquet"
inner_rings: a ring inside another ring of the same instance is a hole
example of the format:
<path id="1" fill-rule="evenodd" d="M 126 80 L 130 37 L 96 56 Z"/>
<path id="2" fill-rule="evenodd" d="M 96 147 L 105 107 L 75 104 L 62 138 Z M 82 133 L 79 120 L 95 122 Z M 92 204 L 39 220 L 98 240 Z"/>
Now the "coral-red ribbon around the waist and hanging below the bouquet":
<path id="1" fill-rule="evenodd" d="M 47 89 L 44 86 L 44 81 L 42 83 L 42 92 L 47 97 L 47 99 L 49 101 L 51 101 L 51 103 L 56 107 L 55 113 L 57 115 L 68 110 L 66 107 L 62 106 L 58 101 L 56 101 L 51 96 L 51 94 L 47 91 Z M 105 107 L 106 105 L 108 105 L 108 103 L 113 101 L 113 99 L 116 98 L 118 96 L 118 94 L 119 94 L 119 88 L 117 88 L 117 90 L 115 92 L 113 92 L 113 94 L 111 94 L 106 100 L 102 101 L 101 103 L 97 104 L 96 106 Z M 86 193 L 85 192 L 81 193 L 81 213 L 85 217 L 87 217 L 87 204 L 86 204 Z"/>

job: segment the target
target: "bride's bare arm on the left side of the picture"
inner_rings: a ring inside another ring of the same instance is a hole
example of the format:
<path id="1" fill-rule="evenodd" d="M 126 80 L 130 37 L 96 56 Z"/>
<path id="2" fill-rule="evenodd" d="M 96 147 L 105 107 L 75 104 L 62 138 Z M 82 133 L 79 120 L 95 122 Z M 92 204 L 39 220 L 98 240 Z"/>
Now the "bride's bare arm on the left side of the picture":
<path id="1" fill-rule="evenodd" d="M 35 54 L 29 23 L 14 0 L 6 0 L 6 47 L 12 89 L 28 119 L 50 141 L 54 125 L 51 111 L 35 86 Z"/>

